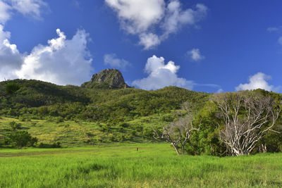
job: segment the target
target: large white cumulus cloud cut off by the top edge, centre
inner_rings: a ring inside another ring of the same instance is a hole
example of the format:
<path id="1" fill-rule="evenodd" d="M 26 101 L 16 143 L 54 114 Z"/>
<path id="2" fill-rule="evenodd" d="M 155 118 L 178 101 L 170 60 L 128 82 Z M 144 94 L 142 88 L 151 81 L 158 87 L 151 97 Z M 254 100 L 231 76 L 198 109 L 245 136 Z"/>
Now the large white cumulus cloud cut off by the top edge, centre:
<path id="1" fill-rule="evenodd" d="M 179 0 L 105 0 L 114 9 L 126 32 L 137 35 L 144 49 L 152 49 L 175 33 L 182 25 L 195 25 L 207 14 L 207 7 L 197 4 L 195 10 L 183 10 Z M 162 34 L 156 33 L 160 28 Z"/>

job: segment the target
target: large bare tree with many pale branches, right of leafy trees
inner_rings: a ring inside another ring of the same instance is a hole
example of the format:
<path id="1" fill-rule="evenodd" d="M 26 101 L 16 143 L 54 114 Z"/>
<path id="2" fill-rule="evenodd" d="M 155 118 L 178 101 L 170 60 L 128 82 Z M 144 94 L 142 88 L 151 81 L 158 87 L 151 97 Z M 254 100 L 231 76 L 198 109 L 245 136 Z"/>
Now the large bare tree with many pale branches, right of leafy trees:
<path id="1" fill-rule="evenodd" d="M 267 131 L 274 131 L 281 107 L 270 96 L 250 92 L 215 94 L 224 127 L 219 132 L 233 156 L 249 155 Z"/>

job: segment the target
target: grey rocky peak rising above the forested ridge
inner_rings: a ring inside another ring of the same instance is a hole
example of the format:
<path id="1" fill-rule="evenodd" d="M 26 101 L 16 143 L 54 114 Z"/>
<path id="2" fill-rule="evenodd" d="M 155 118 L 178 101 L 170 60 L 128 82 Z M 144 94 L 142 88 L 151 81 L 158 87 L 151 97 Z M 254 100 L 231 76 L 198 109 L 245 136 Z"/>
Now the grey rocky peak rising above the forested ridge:
<path id="1" fill-rule="evenodd" d="M 124 82 L 123 75 L 119 70 L 107 68 L 92 75 L 90 82 L 83 83 L 81 87 L 88 89 L 121 89 L 129 86 Z"/>

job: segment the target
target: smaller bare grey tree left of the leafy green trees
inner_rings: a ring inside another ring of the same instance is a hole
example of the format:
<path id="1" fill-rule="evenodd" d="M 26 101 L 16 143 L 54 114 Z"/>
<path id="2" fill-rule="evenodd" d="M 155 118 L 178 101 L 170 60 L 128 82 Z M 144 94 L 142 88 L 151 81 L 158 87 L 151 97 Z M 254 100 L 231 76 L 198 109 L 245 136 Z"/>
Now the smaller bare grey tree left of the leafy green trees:
<path id="1" fill-rule="evenodd" d="M 171 143 L 178 155 L 184 153 L 185 144 L 191 136 L 193 130 L 199 130 L 193 126 L 193 115 L 190 109 L 188 109 L 188 115 L 184 118 L 180 118 L 177 121 L 173 121 L 168 125 L 162 127 L 161 134 L 152 127 L 154 130 L 154 139 L 161 139 Z M 179 152 L 178 146 L 180 145 L 181 151 Z"/>

